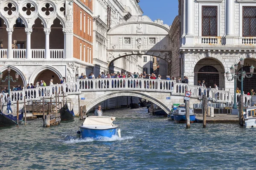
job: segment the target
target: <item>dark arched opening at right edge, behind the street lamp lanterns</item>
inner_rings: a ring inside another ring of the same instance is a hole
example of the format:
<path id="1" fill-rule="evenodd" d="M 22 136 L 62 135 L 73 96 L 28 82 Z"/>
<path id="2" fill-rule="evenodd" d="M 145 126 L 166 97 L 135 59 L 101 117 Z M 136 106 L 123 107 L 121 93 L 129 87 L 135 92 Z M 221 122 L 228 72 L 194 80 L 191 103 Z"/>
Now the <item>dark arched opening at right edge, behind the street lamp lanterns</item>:
<path id="1" fill-rule="evenodd" d="M 241 71 L 241 68 L 239 71 Z M 243 67 L 243 71 L 245 71 L 249 76 L 250 74 L 248 73 L 250 73 L 250 66 Z M 254 69 L 254 73 L 256 73 L 255 69 Z M 241 77 L 239 77 L 239 79 L 241 79 Z M 244 94 L 247 94 L 248 92 L 250 92 L 252 88 L 255 91 L 255 88 L 256 88 L 255 83 L 256 83 L 256 74 L 253 74 L 253 77 L 251 77 L 250 79 L 247 77 L 244 77 L 244 83 L 243 83 Z M 237 81 L 237 87 L 239 88 L 239 90 L 241 90 L 241 82 Z"/>

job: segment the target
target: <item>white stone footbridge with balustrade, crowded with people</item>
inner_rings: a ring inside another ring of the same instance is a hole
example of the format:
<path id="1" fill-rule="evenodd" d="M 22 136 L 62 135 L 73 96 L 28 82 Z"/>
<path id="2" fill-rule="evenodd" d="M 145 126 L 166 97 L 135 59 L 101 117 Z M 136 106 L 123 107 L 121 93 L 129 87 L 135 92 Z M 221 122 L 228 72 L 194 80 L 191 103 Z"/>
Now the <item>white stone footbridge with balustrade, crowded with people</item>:
<path id="1" fill-rule="evenodd" d="M 183 103 L 183 96 L 186 90 L 192 92 L 191 108 L 193 104 L 200 102 L 200 91 L 207 95 L 210 102 L 230 105 L 234 98 L 234 94 L 231 91 L 201 88 L 200 86 L 177 83 L 175 80 L 115 78 L 77 79 L 76 82 L 24 89 L 23 91 L 11 91 L 11 99 L 14 104 L 19 100 L 20 107 L 23 107 L 23 97 L 26 98 L 28 103 L 32 100 L 42 100 L 43 97 L 45 100 L 52 98 L 52 101 L 55 101 L 55 93 L 57 92 L 59 96 L 71 99 L 74 111 L 78 113 L 79 100 L 80 105 L 86 105 L 87 111 L 90 111 L 100 102 L 113 97 L 136 96 L 153 102 L 169 113 L 173 103 Z M 236 94 L 236 97 L 240 95 Z M 250 100 L 251 96 L 244 95 L 245 102 L 250 102 Z"/>

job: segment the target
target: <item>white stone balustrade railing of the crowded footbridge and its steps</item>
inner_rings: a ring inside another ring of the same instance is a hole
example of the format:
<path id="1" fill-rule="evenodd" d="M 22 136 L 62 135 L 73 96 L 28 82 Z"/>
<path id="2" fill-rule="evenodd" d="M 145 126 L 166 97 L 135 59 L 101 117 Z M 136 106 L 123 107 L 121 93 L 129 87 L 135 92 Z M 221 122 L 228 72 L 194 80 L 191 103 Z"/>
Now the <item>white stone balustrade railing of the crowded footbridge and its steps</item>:
<path id="1" fill-rule="evenodd" d="M 109 78 L 109 79 L 77 79 L 76 82 L 67 82 L 50 86 L 24 89 L 23 91 L 11 91 L 12 102 L 26 99 L 42 99 L 58 95 L 81 94 L 82 91 L 152 91 L 170 92 L 172 95 L 184 96 L 186 91 L 191 91 L 191 97 L 201 99 L 206 94 L 209 100 L 215 102 L 233 102 L 234 92 L 215 90 L 214 88 L 202 88 L 201 86 L 177 83 L 175 80 L 159 79 L 135 79 L 135 78 Z M 236 97 L 241 94 L 236 94 Z M 4 101 L 7 93 L 3 96 Z M 246 99 L 246 100 L 245 100 Z M 251 101 L 251 96 L 244 95 L 244 101 Z"/>

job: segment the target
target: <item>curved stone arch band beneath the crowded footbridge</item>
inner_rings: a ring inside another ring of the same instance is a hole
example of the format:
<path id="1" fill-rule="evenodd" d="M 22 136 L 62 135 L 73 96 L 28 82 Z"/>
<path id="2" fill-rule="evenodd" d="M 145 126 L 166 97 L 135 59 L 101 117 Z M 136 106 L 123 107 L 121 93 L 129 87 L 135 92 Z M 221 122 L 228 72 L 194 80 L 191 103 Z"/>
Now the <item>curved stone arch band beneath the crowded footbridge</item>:
<path id="1" fill-rule="evenodd" d="M 91 102 L 88 102 L 86 105 L 86 110 L 87 110 L 87 112 L 89 112 L 99 103 L 101 103 L 107 99 L 111 99 L 113 97 L 119 97 L 119 96 L 133 96 L 133 97 L 140 97 L 140 98 L 146 99 L 146 100 L 158 105 L 166 113 L 170 113 L 172 110 L 172 107 L 166 105 L 164 102 L 160 101 L 159 99 L 157 99 L 154 96 L 151 96 L 145 92 L 132 92 L 132 91 L 115 91 L 115 92 L 112 91 L 111 93 L 103 94 L 102 96 L 97 97 L 96 99 L 92 100 Z"/>

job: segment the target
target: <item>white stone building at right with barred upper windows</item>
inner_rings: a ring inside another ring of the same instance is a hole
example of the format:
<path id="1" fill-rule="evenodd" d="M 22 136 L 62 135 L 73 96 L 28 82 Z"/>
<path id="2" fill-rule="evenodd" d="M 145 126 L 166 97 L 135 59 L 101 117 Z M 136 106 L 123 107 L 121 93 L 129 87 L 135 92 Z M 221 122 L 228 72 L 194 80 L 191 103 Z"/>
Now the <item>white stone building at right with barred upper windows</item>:
<path id="1" fill-rule="evenodd" d="M 255 9 L 251 0 L 179 0 L 179 15 L 169 32 L 180 43 L 172 44 L 172 75 L 188 76 L 192 85 L 206 79 L 207 87 L 215 83 L 232 90 L 234 82 L 227 81 L 225 72 L 240 58 L 247 72 L 256 66 Z M 254 77 L 245 79 L 244 93 L 253 88 Z"/>

